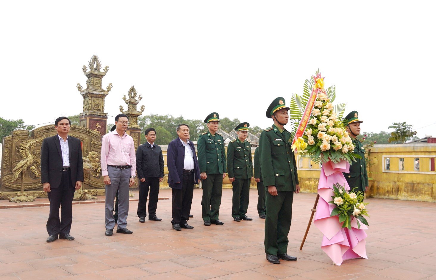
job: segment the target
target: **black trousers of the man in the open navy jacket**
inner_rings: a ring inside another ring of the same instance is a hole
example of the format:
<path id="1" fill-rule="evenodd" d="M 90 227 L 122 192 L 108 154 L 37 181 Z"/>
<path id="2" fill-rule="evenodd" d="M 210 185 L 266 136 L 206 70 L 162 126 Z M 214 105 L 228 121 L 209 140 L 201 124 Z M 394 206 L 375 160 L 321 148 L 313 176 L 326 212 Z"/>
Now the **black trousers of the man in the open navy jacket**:
<path id="1" fill-rule="evenodd" d="M 182 188 L 172 188 L 173 195 L 173 220 L 174 224 L 185 224 L 189 220 L 191 212 L 192 195 L 194 194 L 194 172 L 183 172 Z"/>

